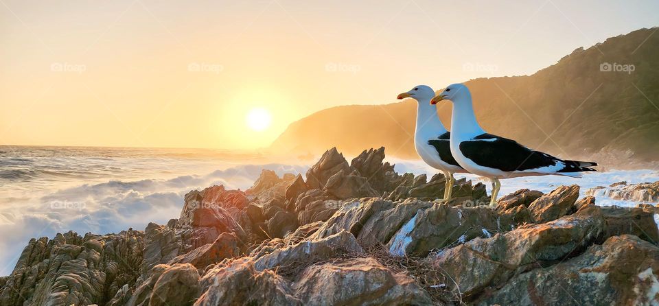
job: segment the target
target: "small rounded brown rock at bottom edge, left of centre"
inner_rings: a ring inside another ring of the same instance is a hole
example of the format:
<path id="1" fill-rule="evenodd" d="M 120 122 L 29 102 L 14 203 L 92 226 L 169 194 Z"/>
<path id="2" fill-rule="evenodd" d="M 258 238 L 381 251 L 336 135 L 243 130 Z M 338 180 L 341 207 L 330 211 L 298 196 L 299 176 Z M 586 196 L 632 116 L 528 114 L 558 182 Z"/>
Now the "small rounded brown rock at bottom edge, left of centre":
<path id="1" fill-rule="evenodd" d="M 189 263 L 167 268 L 153 286 L 149 306 L 192 305 L 199 297 L 199 274 Z"/>

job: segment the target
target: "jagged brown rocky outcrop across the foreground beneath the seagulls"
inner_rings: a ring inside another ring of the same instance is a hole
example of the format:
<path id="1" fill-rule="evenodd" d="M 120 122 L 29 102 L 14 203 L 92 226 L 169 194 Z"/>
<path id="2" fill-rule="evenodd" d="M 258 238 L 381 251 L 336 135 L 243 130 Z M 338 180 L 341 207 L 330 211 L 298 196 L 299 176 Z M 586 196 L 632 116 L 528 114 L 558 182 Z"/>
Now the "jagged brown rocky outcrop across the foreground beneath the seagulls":
<path id="1" fill-rule="evenodd" d="M 306 181 L 191 191 L 143 232 L 32 239 L 0 306 L 659 303 L 656 207 L 599 207 L 573 185 L 490 209 L 467 180 L 446 202 L 443 176 L 383 158 L 329 150 Z"/>

